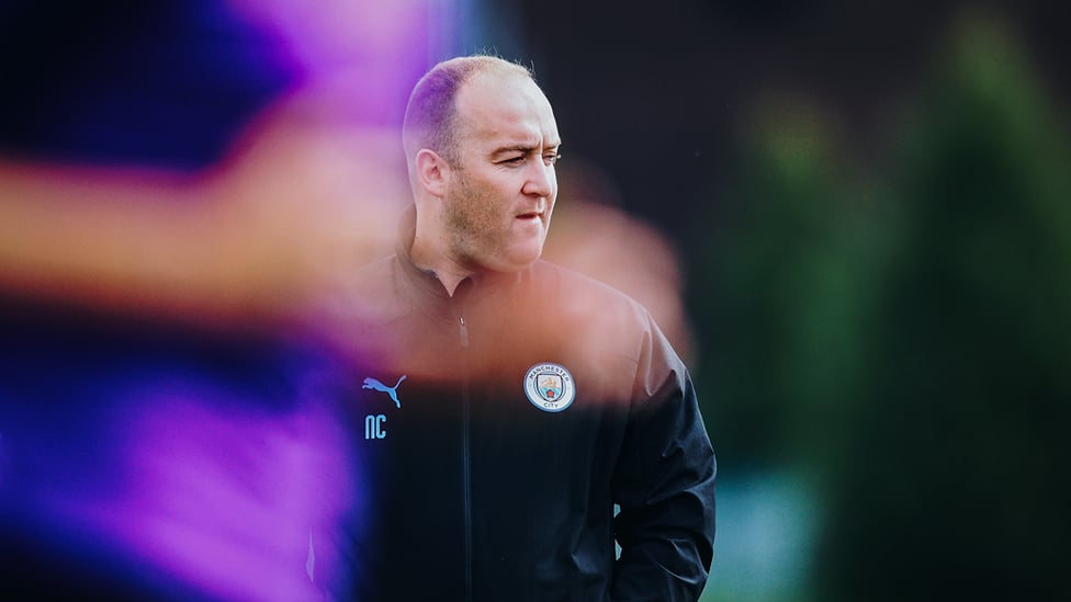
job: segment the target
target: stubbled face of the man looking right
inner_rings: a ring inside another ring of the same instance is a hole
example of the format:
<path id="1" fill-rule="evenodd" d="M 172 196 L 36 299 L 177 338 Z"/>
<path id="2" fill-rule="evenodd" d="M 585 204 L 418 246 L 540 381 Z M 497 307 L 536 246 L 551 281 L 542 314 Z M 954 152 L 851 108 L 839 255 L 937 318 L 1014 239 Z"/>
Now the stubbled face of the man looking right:
<path id="1" fill-rule="evenodd" d="M 550 102 L 522 76 L 478 75 L 458 93 L 446 217 L 453 260 L 523 270 L 539 259 L 557 198 L 561 139 Z"/>

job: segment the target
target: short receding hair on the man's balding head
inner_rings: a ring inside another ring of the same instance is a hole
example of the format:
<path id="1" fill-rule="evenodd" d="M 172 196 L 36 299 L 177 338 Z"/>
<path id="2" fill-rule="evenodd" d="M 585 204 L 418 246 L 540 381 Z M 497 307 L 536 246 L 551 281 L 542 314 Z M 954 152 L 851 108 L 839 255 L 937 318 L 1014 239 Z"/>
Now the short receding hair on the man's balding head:
<path id="1" fill-rule="evenodd" d="M 532 72 L 516 63 L 493 56 L 465 56 L 444 60 L 425 73 L 409 95 L 402 125 L 405 155 L 412 161 L 421 148 L 458 164 L 458 91 L 477 75 L 534 82 Z"/>

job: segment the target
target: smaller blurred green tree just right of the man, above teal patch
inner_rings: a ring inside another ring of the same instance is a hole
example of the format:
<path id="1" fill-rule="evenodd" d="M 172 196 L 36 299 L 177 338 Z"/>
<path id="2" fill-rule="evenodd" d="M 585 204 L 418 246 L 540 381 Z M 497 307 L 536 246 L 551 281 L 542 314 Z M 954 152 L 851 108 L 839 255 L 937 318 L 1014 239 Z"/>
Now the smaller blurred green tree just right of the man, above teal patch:
<path id="1" fill-rule="evenodd" d="M 887 243 L 880 193 L 858 186 L 835 120 L 788 98 L 760 103 L 713 231 L 690 237 L 708 266 L 692 295 L 708 343 L 698 379 L 730 472 L 831 465 Z"/>

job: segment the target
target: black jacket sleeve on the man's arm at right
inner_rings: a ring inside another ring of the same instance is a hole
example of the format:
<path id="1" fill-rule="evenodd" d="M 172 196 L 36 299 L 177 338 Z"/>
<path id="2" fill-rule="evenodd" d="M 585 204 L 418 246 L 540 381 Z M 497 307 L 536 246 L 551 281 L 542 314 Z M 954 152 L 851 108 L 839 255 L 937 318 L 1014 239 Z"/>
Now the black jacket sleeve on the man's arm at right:
<path id="1" fill-rule="evenodd" d="M 715 470 L 687 368 L 650 322 L 613 475 L 615 602 L 699 599 L 713 557 Z"/>

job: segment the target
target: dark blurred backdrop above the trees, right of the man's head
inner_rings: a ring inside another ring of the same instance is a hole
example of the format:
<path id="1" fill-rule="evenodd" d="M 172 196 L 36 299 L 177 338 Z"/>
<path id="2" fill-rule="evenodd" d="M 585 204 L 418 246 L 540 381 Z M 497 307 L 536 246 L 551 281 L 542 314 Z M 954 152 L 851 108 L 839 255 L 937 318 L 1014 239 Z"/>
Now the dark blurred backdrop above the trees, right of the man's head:
<path id="1" fill-rule="evenodd" d="M 719 202 L 755 104 L 770 98 L 821 103 L 845 151 L 877 159 L 968 11 L 1006 26 L 1055 98 L 1071 92 L 1059 2 L 516 4 L 472 46 L 522 53 L 559 106 L 570 152 L 596 158 L 630 211 L 675 230 Z"/>

